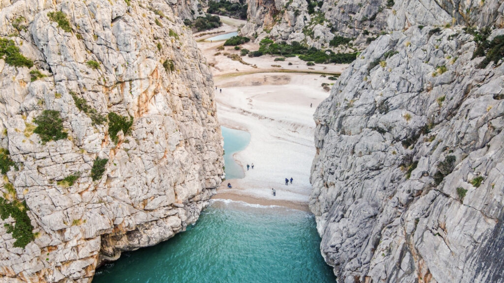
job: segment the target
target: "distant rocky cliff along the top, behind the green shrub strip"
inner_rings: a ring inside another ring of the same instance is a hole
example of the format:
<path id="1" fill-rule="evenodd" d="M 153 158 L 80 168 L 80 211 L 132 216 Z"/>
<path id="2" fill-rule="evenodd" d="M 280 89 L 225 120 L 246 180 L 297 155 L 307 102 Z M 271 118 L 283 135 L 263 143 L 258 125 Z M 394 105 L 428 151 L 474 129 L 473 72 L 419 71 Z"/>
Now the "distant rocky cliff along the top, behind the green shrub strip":
<path id="1" fill-rule="evenodd" d="M 502 25 L 501 1 L 250 0 L 243 35 L 298 41 L 318 49 L 335 36 L 351 38 L 337 49 L 362 50 L 377 36 L 414 25 Z"/>

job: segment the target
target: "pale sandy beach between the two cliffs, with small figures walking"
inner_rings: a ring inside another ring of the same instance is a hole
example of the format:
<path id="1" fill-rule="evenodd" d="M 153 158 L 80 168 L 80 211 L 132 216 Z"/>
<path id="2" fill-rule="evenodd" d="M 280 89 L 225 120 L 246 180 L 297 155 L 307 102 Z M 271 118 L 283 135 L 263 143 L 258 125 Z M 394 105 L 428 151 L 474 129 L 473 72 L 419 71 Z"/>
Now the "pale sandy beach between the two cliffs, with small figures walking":
<path id="1" fill-rule="evenodd" d="M 224 24 L 216 31 L 223 32 L 217 34 L 236 31 L 244 24 L 227 17 L 221 19 Z M 243 56 L 244 64 L 230 58 L 229 54 L 240 52 L 233 46 L 217 50 L 224 41 L 204 41 L 215 35 L 207 31 L 197 41 L 218 87 L 215 97 L 219 120 L 223 126 L 248 131 L 250 143 L 234 155 L 245 177 L 223 182 L 214 198 L 307 210 L 311 161 L 315 155 L 312 116 L 329 95 L 322 84 L 330 87 L 334 81 L 328 78 L 340 74 L 346 65 L 307 66 L 297 57 L 274 61 L 275 57 L 268 55 Z M 254 43 L 242 46 L 249 50 L 259 48 Z M 246 164 L 252 163 L 254 169 L 247 171 Z M 292 184 L 289 181 L 285 185 L 285 178 L 293 178 Z M 228 182 L 232 189 L 226 187 Z M 276 196 L 272 188 L 276 189 Z"/>

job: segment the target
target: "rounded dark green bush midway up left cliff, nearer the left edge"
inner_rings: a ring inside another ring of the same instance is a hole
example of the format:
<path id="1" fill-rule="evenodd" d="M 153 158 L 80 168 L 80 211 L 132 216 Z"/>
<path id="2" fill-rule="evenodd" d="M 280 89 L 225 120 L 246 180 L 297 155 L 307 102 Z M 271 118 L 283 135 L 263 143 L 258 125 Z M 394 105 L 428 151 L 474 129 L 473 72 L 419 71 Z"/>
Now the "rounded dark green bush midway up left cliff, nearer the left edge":
<path id="1" fill-rule="evenodd" d="M 64 139 L 68 136 L 68 133 L 63 131 L 63 120 L 61 120 L 58 111 L 44 110 L 33 121 L 37 124 L 33 132 L 40 136 L 42 143 Z"/>

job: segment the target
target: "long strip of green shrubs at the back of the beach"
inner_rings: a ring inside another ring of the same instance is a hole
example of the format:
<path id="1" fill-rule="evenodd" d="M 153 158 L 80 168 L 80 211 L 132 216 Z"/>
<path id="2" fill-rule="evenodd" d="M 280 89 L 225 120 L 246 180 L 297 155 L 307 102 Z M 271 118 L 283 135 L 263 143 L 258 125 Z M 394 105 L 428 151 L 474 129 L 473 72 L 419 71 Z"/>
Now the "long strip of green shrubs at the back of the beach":
<path id="1" fill-rule="evenodd" d="M 312 61 L 318 64 L 351 63 L 357 57 L 357 53 L 334 53 L 331 50 L 319 50 L 314 47 L 307 48 L 297 41 L 294 41 L 292 42 L 292 45 L 289 45 L 285 42 L 275 43 L 271 39 L 264 38 L 259 43 L 259 46 L 259 50 L 257 50 L 259 52 L 252 52 L 254 54 L 249 54 L 250 57 L 261 56 L 263 54 L 292 57 L 297 54 L 299 55 L 299 59 L 303 61 Z M 326 52 L 329 52 L 329 54 Z"/>

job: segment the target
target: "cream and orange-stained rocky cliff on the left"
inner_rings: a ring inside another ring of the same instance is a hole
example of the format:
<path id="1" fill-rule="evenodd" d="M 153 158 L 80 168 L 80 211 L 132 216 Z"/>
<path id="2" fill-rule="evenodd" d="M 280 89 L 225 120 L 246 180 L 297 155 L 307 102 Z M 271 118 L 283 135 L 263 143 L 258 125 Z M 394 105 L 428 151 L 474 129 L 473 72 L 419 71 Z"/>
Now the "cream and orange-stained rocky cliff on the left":
<path id="1" fill-rule="evenodd" d="M 194 223 L 221 182 L 222 137 L 181 8 L 1 7 L 0 281 L 89 282 L 103 260 Z"/>

